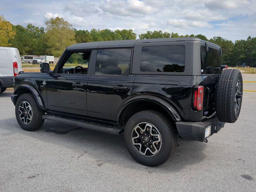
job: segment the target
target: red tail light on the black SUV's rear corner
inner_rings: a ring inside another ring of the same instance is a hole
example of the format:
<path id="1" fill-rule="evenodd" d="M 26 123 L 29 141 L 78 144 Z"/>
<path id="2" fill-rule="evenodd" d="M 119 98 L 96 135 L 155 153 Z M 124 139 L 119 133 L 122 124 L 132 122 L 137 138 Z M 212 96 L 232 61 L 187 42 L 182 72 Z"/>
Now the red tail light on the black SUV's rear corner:
<path id="1" fill-rule="evenodd" d="M 204 101 L 204 86 L 194 86 L 193 89 L 193 108 L 195 110 L 203 109 L 203 101 Z"/>

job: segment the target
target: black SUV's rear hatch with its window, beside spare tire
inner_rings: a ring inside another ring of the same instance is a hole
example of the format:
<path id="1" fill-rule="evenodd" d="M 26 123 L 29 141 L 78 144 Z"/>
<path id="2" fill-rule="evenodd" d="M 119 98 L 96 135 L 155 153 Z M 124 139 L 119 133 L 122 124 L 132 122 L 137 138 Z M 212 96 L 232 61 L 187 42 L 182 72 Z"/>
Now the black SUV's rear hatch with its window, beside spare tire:
<path id="1" fill-rule="evenodd" d="M 201 46 L 201 74 L 204 86 L 204 116 L 211 116 L 215 112 L 214 94 L 218 83 L 218 74 L 222 71 L 221 51 L 214 48 Z"/>

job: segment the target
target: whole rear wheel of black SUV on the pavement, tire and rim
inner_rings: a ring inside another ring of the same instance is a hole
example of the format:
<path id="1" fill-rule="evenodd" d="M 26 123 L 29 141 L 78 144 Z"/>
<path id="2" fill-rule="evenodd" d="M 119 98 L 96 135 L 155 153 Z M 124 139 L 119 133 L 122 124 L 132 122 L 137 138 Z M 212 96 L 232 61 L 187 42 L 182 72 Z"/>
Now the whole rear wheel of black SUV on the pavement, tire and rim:
<path id="1" fill-rule="evenodd" d="M 177 134 L 163 114 L 145 110 L 128 120 L 124 141 L 136 161 L 147 166 L 158 166 L 173 154 L 177 146 Z"/>

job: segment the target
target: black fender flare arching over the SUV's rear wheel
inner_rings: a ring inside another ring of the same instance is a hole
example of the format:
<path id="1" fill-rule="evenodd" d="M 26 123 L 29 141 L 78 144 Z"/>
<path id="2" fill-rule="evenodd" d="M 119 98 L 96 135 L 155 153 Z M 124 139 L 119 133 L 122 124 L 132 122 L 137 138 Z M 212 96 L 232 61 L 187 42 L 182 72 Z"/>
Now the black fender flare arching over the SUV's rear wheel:
<path id="1" fill-rule="evenodd" d="M 130 100 L 126 101 L 122 107 L 120 108 L 118 115 L 117 115 L 117 122 L 120 121 L 120 116 L 122 115 L 122 112 L 125 110 L 125 108 L 131 104 L 132 102 L 139 101 L 139 100 L 146 100 L 146 101 L 151 101 L 156 104 L 159 104 L 164 108 L 172 117 L 172 120 L 174 121 L 181 121 L 180 115 L 178 114 L 177 110 L 172 106 L 172 104 L 166 102 L 165 100 L 158 98 L 156 96 L 151 96 L 151 95 L 140 95 L 140 96 L 135 96 L 132 97 Z"/>

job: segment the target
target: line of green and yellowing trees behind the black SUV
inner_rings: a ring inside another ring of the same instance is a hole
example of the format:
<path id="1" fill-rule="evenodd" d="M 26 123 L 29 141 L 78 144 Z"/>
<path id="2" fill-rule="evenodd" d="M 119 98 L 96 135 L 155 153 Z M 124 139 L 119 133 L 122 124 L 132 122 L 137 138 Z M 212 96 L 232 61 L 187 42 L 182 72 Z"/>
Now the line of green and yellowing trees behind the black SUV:
<path id="1" fill-rule="evenodd" d="M 0 46 L 16 47 L 21 55 L 48 54 L 60 57 L 65 48 L 74 43 L 136 39 L 132 29 L 76 30 L 59 17 L 50 18 L 45 24 L 46 28 L 32 24 L 23 27 L 12 25 L 0 16 Z M 256 67 L 256 37 L 248 36 L 246 40 L 232 42 L 219 36 L 208 39 L 202 34 L 179 35 L 161 30 L 139 34 L 140 39 L 175 37 L 197 37 L 218 44 L 222 48 L 223 64 L 236 66 L 246 63 L 247 66 Z"/>

